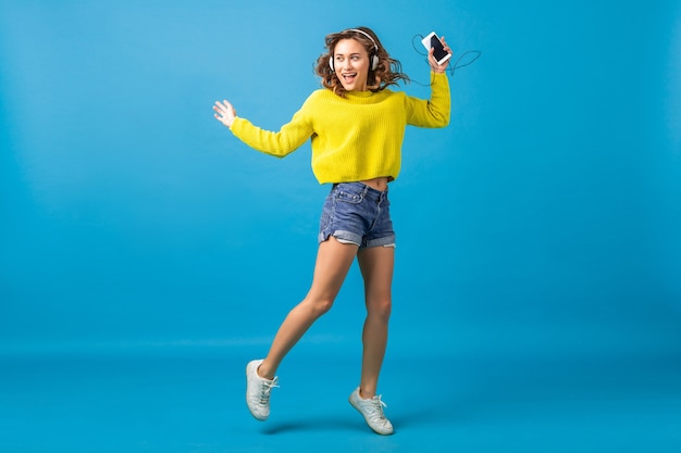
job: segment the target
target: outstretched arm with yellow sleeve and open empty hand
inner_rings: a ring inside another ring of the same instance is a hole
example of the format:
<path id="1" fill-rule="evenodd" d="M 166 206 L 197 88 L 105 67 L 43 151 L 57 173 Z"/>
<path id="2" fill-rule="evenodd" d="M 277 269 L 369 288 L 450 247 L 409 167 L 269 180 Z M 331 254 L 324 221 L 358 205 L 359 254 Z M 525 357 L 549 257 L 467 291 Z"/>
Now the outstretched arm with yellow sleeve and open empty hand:
<path id="1" fill-rule="evenodd" d="M 306 121 L 302 109 L 277 133 L 264 130 L 248 119 L 236 116 L 236 110 L 226 100 L 215 102 L 213 110 L 215 111 L 215 119 L 227 126 L 234 136 L 244 143 L 278 158 L 298 149 L 313 133 L 311 125 Z"/>

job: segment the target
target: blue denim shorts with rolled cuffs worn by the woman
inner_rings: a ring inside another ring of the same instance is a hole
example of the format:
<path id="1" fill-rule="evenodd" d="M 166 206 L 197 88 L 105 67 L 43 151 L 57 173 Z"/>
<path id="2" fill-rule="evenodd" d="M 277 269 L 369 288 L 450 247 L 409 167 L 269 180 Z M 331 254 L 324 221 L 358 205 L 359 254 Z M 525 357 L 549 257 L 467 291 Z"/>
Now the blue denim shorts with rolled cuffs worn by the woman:
<path id="1" fill-rule="evenodd" d="M 319 242 L 330 236 L 360 249 L 395 247 L 387 190 L 361 183 L 334 184 L 324 201 L 319 223 Z"/>

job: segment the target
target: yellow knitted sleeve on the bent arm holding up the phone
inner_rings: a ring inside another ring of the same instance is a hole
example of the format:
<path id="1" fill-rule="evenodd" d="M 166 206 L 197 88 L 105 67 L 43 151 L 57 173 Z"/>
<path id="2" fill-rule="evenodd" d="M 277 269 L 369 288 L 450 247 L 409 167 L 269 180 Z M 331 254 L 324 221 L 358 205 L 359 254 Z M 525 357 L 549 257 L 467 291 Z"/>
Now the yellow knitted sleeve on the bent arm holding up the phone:
<path id="1" fill-rule="evenodd" d="M 449 124 L 451 97 L 447 74 L 432 73 L 431 99 L 407 98 L 407 124 L 445 127 Z"/>

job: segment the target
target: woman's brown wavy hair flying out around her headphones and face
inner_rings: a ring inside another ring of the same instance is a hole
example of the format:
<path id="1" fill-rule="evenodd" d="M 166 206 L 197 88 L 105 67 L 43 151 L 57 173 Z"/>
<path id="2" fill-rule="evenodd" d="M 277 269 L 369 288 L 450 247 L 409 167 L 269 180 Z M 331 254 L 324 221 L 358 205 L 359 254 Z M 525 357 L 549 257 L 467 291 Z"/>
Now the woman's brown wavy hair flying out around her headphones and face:
<path id="1" fill-rule="evenodd" d="M 360 29 L 373 38 L 376 42 L 376 47 L 379 48 L 377 53 L 374 50 L 373 42 L 371 42 L 371 40 L 361 33 L 355 32 L 352 28 L 327 35 L 325 38 L 326 52 L 322 53 L 319 59 L 317 59 L 317 63 L 314 65 L 314 72 L 322 78 L 322 85 L 324 88 L 329 88 L 340 97 L 345 97 L 345 93 L 347 92 L 346 89 L 343 88 L 340 80 L 338 80 L 335 71 L 333 71 L 329 64 L 329 60 L 333 58 L 336 45 L 342 39 L 355 39 L 364 47 L 369 55 L 376 53 L 379 56 L 379 65 L 375 71 L 371 70 L 371 65 L 369 67 L 369 76 L 367 77 L 367 88 L 369 88 L 369 90 L 374 92 L 382 91 L 391 85 L 397 85 L 399 80 L 408 83 L 409 77 L 407 74 L 401 72 L 401 64 L 399 61 L 391 58 L 379 40 L 376 34 L 369 27 L 357 27 L 356 29 Z"/>

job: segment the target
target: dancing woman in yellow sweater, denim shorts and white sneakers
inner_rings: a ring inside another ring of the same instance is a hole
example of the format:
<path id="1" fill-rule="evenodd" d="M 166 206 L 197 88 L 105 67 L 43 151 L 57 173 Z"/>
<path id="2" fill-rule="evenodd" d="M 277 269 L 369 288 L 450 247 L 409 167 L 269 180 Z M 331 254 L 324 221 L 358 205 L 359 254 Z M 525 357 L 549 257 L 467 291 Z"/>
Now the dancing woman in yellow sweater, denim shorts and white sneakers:
<path id="1" fill-rule="evenodd" d="M 246 367 L 246 401 L 253 417 L 270 415 L 270 392 L 276 369 L 308 328 L 326 313 L 355 257 L 364 281 L 367 318 L 362 331 L 360 383 L 350 404 L 377 433 L 393 433 L 376 395 L 387 343 L 395 232 L 389 216 L 388 183 L 400 167 L 407 125 L 445 127 L 449 123 L 449 85 L 445 70 L 429 54 L 431 100 L 392 91 L 408 77 L 376 35 L 367 27 L 329 35 L 327 52 L 317 61 L 324 88 L 306 100 L 292 121 L 273 133 L 236 116 L 227 101 L 215 102 L 215 118 L 251 148 L 284 156 L 311 138 L 312 172 L 332 184 L 320 222 L 312 285 L 286 316 L 263 360 Z M 449 52 L 449 48 L 445 49 Z"/>

